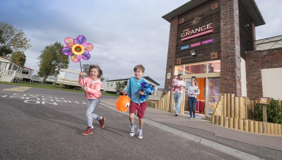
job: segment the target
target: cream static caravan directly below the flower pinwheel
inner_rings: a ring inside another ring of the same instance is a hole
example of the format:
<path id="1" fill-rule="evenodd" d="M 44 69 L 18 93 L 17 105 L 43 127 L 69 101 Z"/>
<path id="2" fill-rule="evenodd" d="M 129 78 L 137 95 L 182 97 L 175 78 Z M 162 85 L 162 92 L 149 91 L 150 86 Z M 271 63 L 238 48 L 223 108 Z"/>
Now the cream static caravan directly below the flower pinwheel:
<path id="1" fill-rule="evenodd" d="M 57 75 L 57 79 L 55 83 L 56 84 L 62 83 L 74 89 L 76 87 L 82 87 L 83 85 L 78 84 L 79 72 L 80 71 L 76 71 L 76 70 L 60 69 L 60 72 Z"/>

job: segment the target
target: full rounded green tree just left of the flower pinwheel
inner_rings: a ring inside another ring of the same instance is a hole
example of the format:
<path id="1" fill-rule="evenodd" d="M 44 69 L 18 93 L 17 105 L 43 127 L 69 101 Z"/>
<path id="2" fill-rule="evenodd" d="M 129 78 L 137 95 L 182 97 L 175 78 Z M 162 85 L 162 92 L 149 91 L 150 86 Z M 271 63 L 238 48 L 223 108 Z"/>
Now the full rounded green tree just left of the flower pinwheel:
<path id="1" fill-rule="evenodd" d="M 64 46 L 60 42 L 55 42 L 46 46 L 39 57 L 39 76 L 43 77 L 42 83 L 45 83 L 46 78 L 49 75 L 55 75 L 61 68 L 67 69 L 69 67 L 69 56 L 62 54 L 61 49 Z"/>

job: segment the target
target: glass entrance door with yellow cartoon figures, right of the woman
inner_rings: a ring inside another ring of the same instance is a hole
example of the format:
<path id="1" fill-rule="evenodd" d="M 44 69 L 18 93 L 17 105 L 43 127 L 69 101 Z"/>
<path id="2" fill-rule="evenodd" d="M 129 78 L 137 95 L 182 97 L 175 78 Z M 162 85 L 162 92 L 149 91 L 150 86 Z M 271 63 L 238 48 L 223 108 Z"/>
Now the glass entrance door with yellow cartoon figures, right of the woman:
<path id="1" fill-rule="evenodd" d="M 214 108 L 216 107 L 215 102 L 219 100 L 220 97 L 220 78 L 208 78 L 207 88 L 208 88 L 208 103 L 207 103 L 207 113 L 206 116 L 211 118 L 212 111 L 214 111 Z"/>

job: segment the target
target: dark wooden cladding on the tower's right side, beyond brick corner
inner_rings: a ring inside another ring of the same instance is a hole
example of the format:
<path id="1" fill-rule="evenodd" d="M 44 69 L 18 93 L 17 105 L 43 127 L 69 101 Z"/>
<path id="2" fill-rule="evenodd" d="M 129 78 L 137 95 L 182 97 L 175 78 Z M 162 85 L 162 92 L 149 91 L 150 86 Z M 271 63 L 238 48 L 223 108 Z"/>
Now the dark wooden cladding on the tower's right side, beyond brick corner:
<path id="1" fill-rule="evenodd" d="M 252 28 L 251 28 L 251 19 L 246 13 L 243 5 L 239 1 L 239 31 L 240 31 L 240 54 L 243 59 L 245 58 L 245 52 L 252 51 L 253 46 L 249 42 L 253 41 L 252 39 Z"/>

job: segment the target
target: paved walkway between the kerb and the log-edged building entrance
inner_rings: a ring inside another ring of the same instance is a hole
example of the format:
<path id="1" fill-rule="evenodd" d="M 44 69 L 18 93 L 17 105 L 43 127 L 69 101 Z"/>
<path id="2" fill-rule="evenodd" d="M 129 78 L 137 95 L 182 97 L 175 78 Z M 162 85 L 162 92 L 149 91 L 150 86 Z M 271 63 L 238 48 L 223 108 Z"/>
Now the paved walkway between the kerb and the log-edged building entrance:
<path id="1" fill-rule="evenodd" d="M 102 99 L 101 103 L 115 106 L 116 99 Z M 189 135 L 233 148 L 263 159 L 282 159 L 282 137 L 255 134 L 213 125 L 210 121 L 147 108 L 145 119 L 168 126 Z M 146 126 L 144 126 L 145 128 Z M 165 130 L 165 129 L 164 129 Z M 192 140 L 193 141 L 193 140 Z"/>

